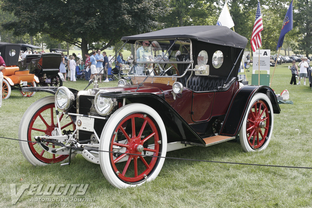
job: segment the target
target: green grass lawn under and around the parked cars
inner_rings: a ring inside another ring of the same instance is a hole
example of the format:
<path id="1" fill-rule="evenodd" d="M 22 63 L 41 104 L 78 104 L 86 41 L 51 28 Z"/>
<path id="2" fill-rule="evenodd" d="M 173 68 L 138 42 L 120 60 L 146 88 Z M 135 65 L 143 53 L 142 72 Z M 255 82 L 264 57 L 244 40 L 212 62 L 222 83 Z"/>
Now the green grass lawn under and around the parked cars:
<path id="1" fill-rule="evenodd" d="M 288 89 L 294 105 L 281 104 L 281 113 L 274 114 L 273 136 L 266 150 L 245 153 L 239 143 L 225 142 L 207 148 L 168 152 L 167 156 L 312 167 L 312 91 L 309 85 L 289 85 L 288 65 L 276 67 L 271 87 L 276 93 Z M 252 68 L 247 72 L 249 83 L 251 71 Z M 86 85 L 87 81 L 64 82 L 64 86 L 79 90 Z M 114 85 L 117 85 L 116 81 L 100 86 Z M 34 97 L 22 98 L 18 91 L 12 91 L 0 108 L 0 136 L 17 138 L 24 112 L 33 102 L 48 95 L 36 93 Z M 0 152 L 0 207 L 49 207 L 47 202 L 30 201 L 32 196 L 26 194 L 16 205 L 11 205 L 10 184 L 17 184 L 18 191 L 27 183 L 90 184 L 84 196 L 67 194 L 34 198 L 95 197 L 96 207 L 312 207 L 312 170 L 309 169 L 168 159 L 154 181 L 119 190 L 106 181 L 99 165 L 87 162 L 81 155 L 77 155 L 70 166 L 34 167 L 23 157 L 17 141 L 1 139 Z"/>

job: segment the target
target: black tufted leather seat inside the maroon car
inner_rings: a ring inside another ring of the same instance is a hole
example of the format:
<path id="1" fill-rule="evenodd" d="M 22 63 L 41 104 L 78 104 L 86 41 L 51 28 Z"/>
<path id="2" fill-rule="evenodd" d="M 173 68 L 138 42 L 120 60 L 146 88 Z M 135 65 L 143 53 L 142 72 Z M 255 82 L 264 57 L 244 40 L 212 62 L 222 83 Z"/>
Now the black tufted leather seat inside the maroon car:
<path id="1" fill-rule="evenodd" d="M 183 84 L 183 86 L 186 86 L 186 81 L 188 80 L 188 77 L 189 75 L 185 75 L 184 77 L 180 78 L 180 82 Z M 226 80 L 227 80 L 226 76 L 192 75 L 190 80 L 188 80 L 188 89 L 191 89 L 195 92 L 227 90 L 231 86 L 231 84 L 236 80 L 236 77 L 230 77 L 224 86 L 224 82 Z"/>

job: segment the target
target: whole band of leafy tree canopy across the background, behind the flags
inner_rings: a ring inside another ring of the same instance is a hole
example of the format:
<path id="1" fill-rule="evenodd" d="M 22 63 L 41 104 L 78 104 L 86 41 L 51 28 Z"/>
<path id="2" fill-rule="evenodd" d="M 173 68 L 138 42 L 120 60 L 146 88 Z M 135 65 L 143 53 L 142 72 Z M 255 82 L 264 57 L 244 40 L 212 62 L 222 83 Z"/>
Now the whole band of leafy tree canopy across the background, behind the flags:
<path id="1" fill-rule="evenodd" d="M 251 49 L 257 2 L 227 0 L 235 31 L 248 39 L 247 50 Z M 0 3 L 6 11 L 5 14 L 0 11 L 3 13 L 0 15 L 2 27 L 12 31 L 11 39 L 12 34 L 17 36 L 15 42 L 26 41 L 25 35 L 29 34 L 34 43 L 44 42 L 49 47 L 57 47 L 58 42 L 64 45 L 66 41 L 81 48 L 83 53 L 90 49 L 121 46 L 118 41 L 122 36 L 166 27 L 215 25 L 224 5 L 224 1 L 219 0 L 0 0 Z M 296 30 L 286 34 L 286 47 L 311 53 L 311 3 L 309 0 L 294 2 Z M 275 51 L 289 4 L 290 0 L 261 0 L 262 48 Z"/>

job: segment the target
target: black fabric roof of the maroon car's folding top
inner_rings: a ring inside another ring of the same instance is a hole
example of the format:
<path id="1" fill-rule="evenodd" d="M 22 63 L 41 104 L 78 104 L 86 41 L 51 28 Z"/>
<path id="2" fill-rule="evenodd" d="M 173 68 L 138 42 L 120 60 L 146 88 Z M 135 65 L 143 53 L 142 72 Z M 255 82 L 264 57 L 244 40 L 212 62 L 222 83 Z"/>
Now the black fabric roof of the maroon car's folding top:
<path id="1" fill-rule="evenodd" d="M 135 43 L 137 40 L 174 38 L 189 38 L 242 49 L 244 49 L 247 44 L 246 37 L 237 34 L 228 27 L 217 25 L 171 27 L 154 32 L 122 37 L 121 40 L 124 42 L 128 40 L 129 43 Z"/>

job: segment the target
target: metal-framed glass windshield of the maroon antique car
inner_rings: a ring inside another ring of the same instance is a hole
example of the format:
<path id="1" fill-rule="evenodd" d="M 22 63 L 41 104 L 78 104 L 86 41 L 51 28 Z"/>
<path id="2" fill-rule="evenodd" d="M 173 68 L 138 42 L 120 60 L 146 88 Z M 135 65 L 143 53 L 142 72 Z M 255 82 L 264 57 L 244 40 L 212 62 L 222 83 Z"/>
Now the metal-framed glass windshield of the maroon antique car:
<path id="1" fill-rule="evenodd" d="M 156 66 L 151 75 L 179 75 L 179 70 L 182 70 L 184 65 L 187 66 L 190 62 L 191 41 L 178 40 L 173 43 L 174 40 L 136 41 L 136 65 L 134 68 L 141 67 L 143 73 L 138 74 L 135 70 L 135 75 L 146 75 L 148 71 L 154 69 L 160 60 L 160 64 Z"/>

